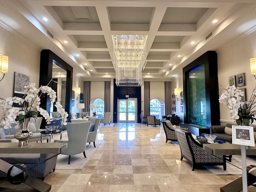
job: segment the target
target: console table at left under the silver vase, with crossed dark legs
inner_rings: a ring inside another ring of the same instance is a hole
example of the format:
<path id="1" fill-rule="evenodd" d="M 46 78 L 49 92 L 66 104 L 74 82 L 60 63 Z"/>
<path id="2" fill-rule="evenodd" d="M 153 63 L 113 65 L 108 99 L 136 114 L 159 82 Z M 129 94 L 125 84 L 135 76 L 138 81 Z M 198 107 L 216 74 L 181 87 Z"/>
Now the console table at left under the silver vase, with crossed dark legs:
<path id="1" fill-rule="evenodd" d="M 61 149 L 66 146 L 66 143 L 30 143 L 27 146 L 18 146 L 18 143 L 0 143 L 0 153 L 8 154 L 60 154 Z M 56 155 L 54 155 L 56 156 Z M 54 157 L 52 156 L 52 157 Z M 38 162 L 40 164 L 42 162 Z M 23 172 L 22 169 L 13 166 L 12 164 L 0 159 L 0 170 L 8 174 L 8 170 L 12 168 L 10 176 L 16 176 Z M 28 176 L 24 181 L 25 184 L 34 188 L 39 192 L 49 192 L 51 190 L 51 185 L 43 182 L 38 178 Z"/>

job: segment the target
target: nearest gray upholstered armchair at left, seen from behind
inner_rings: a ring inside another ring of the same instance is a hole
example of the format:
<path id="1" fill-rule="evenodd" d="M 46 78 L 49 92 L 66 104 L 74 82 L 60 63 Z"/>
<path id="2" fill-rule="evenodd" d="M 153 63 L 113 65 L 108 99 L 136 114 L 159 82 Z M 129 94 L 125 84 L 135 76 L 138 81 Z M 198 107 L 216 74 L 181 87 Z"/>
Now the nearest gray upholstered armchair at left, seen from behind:
<path id="1" fill-rule="evenodd" d="M 91 122 L 67 123 L 68 140 L 54 140 L 54 142 L 68 143 L 67 148 L 61 151 L 61 154 L 68 155 L 68 164 L 70 164 L 71 155 L 82 153 L 85 155 L 87 137 Z"/>

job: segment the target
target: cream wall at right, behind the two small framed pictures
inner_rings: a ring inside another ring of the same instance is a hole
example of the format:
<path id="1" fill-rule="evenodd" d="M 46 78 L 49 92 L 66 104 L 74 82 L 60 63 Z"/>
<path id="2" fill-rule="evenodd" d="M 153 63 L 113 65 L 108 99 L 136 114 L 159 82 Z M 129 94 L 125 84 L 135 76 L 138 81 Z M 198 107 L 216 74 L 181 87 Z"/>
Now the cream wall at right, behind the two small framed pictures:
<path id="1" fill-rule="evenodd" d="M 234 42 L 216 50 L 218 54 L 218 80 L 226 88 L 228 77 L 240 73 L 245 74 L 247 100 L 255 87 L 256 80 L 250 73 L 250 58 L 256 56 L 256 31 L 235 40 Z M 232 122 L 230 112 L 224 104 L 220 104 L 220 120 Z"/>

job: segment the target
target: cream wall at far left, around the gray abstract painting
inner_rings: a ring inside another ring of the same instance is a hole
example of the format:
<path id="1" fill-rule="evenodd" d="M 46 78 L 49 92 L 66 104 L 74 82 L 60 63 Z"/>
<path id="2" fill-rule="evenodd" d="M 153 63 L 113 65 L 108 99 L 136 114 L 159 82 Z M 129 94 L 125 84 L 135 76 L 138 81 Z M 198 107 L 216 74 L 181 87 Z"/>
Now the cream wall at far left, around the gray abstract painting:
<path id="1" fill-rule="evenodd" d="M 12 97 L 14 72 L 28 75 L 30 83 L 36 83 L 38 86 L 42 49 L 1 26 L 0 34 L 0 53 L 9 57 L 8 73 L 0 82 L 0 97 Z"/>

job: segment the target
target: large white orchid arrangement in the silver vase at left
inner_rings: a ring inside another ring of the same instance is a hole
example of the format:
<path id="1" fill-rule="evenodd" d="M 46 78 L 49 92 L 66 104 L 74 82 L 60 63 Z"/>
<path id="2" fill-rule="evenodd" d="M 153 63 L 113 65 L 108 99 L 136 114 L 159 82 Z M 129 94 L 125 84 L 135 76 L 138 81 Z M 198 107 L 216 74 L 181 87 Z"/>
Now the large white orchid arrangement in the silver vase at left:
<path id="1" fill-rule="evenodd" d="M 50 97 L 51 104 L 55 102 L 56 92 L 48 86 L 36 88 L 36 84 L 32 83 L 29 86 L 24 86 L 24 97 L 8 97 L 5 100 L 0 100 L 0 125 L 5 129 L 10 129 L 14 121 L 22 124 L 25 118 L 36 118 L 40 113 L 46 123 L 50 124 L 50 115 L 48 112 L 40 108 L 40 97 L 47 94 Z M 14 107 L 13 103 L 21 105 L 21 108 Z M 57 112 L 62 118 L 61 125 L 66 125 L 68 113 L 62 108 L 60 102 L 56 102 Z"/>

